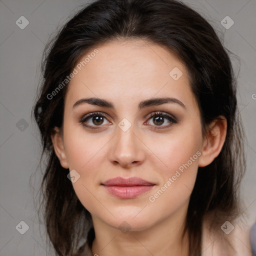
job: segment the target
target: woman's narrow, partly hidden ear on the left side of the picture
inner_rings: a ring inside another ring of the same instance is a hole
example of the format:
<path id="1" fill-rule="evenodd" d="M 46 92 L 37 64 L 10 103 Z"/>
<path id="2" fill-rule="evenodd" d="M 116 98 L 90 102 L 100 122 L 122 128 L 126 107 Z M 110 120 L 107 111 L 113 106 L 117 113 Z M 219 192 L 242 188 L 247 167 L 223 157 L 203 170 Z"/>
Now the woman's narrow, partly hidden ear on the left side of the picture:
<path id="1" fill-rule="evenodd" d="M 51 141 L 53 144 L 54 152 L 59 159 L 61 166 L 68 169 L 66 154 L 63 145 L 62 131 L 58 127 L 54 127 L 54 132 L 51 134 Z"/>

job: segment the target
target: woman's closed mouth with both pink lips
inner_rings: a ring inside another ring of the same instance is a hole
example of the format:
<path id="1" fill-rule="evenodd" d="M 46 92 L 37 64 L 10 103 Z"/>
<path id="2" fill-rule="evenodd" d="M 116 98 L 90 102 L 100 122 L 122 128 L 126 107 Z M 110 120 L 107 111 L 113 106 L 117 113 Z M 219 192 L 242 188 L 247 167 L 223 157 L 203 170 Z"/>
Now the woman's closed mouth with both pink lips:
<path id="1" fill-rule="evenodd" d="M 106 180 L 101 185 L 115 197 L 131 199 L 149 191 L 155 184 L 139 177 L 116 177 Z"/>

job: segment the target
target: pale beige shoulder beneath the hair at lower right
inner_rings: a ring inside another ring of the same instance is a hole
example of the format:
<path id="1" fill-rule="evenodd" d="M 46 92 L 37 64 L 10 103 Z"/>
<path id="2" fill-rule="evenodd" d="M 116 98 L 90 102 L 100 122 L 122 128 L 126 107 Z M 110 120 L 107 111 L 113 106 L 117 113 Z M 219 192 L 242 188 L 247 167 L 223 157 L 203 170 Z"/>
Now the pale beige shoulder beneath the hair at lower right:
<path id="1" fill-rule="evenodd" d="M 214 229 L 214 232 L 213 232 Z M 251 256 L 250 226 L 242 219 L 225 221 L 202 230 L 202 256 Z"/>

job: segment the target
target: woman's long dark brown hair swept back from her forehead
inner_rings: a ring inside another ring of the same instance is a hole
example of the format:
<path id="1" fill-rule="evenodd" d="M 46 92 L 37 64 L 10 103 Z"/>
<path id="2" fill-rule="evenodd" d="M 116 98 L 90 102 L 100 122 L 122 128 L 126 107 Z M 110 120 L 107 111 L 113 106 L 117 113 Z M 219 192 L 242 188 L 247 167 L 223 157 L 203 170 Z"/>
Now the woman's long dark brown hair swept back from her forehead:
<path id="1" fill-rule="evenodd" d="M 46 45 L 42 82 L 33 106 L 46 168 L 41 183 L 47 234 L 56 255 L 72 255 L 91 226 L 90 213 L 77 198 L 56 157 L 50 135 L 61 127 L 66 86 L 49 95 L 89 49 L 110 40 L 143 39 L 164 46 L 185 64 L 197 100 L 203 132 L 219 115 L 227 133 L 219 155 L 199 167 L 188 206 L 185 231 L 189 255 L 201 253 L 202 223 L 232 220 L 238 214 L 238 185 L 245 169 L 236 102 L 236 79 L 228 56 L 212 26 L 196 11 L 176 0 L 97 0 L 77 12 Z M 216 225 L 215 225 L 216 226 Z M 89 238 L 91 244 L 93 233 Z"/>

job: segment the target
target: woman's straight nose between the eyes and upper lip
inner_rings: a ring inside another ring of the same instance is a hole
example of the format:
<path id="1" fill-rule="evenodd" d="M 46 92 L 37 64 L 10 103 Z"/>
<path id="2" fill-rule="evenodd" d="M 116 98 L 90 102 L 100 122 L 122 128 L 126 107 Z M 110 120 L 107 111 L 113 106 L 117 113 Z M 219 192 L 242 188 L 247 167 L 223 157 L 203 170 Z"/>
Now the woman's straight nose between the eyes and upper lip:
<path id="1" fill-rule="evenodd" d="M 140 165 L 145 159 L 145 154 L 142 139 L 134 133 L 133 125 L 126 131 L 123 131 L 119 126 L 116 129 L 116 135 L 110 144 L 109 160 L 114 165 L 119 164 L 125 168 Z"/>

